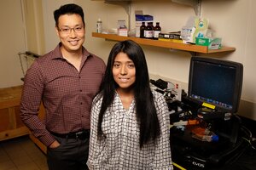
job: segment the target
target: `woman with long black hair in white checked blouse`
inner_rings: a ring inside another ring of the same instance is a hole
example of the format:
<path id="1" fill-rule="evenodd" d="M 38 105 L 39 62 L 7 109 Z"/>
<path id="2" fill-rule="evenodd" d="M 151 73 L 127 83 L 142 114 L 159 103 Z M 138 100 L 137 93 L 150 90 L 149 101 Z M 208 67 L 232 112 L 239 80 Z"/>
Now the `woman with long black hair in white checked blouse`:
<path id="1" fill-rule="evenodd" d="M 172 169 L 168 108 L 150 88 L 143 49 L 116 43 L 90 119 L 90 169 Z"/>

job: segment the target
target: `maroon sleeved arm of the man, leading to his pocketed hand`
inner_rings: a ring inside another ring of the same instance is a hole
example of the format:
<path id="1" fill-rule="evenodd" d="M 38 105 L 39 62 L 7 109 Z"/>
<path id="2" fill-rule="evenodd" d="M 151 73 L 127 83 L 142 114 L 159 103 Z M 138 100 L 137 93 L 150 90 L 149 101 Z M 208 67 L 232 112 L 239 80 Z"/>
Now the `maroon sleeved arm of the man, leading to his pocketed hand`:
<path id="1" fill-rule="evenodd" d="M 44 77 L 37 61 L 26 71 L 20 101 L 20 118 L 43 144 L 49 146 L 55 139 L 46 130 L 44 122 L 38 117 L 39 106 L 44 93 Z"/>

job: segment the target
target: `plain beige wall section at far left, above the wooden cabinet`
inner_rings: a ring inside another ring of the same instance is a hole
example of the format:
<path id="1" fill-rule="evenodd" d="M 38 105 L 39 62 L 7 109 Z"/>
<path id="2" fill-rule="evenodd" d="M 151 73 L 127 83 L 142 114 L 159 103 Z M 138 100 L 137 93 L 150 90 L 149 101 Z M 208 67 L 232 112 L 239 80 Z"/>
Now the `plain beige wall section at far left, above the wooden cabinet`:
<path id="1" fill-rule="evenodd" d="M 19 0 L 0 1 L 0 88 L 22 84 L 18 53 L 26 50 Z"/>

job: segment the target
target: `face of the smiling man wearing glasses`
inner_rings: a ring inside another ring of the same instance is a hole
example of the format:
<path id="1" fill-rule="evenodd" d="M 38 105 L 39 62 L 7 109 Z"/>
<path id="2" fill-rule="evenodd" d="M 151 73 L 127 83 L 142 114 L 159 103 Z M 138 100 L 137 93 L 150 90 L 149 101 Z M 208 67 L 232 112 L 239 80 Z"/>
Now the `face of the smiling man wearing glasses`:
<path id="1" fill-rule="evenodd" d="M 59 26 L 55 27 L 62 43 L 62 50 L 76 53 L 84 43 L 84 24 L 79 14 L 64 14 L 59 18 Z"/>

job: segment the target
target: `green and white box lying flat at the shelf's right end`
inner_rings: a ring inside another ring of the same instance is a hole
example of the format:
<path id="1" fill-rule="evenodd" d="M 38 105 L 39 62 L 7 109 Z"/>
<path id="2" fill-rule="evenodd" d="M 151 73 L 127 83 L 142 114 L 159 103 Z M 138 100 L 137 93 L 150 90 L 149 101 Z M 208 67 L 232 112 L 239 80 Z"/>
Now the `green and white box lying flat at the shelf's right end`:
<path id="1" fill-rule="evenodd" d="M 219 37 L 196 37 L 195 44 L 201 46 L 207 46 L 208 49 L 219 49 L 221 48 L 221 38 Z"/>

